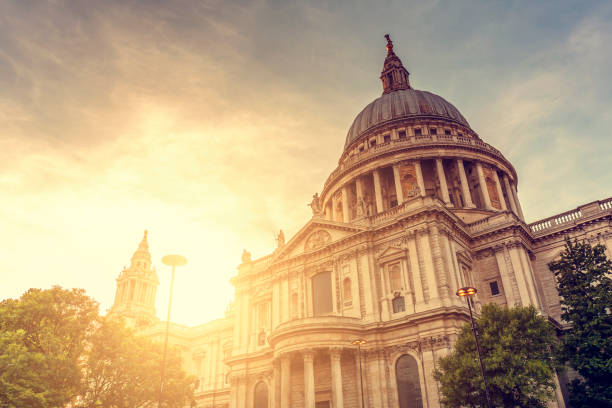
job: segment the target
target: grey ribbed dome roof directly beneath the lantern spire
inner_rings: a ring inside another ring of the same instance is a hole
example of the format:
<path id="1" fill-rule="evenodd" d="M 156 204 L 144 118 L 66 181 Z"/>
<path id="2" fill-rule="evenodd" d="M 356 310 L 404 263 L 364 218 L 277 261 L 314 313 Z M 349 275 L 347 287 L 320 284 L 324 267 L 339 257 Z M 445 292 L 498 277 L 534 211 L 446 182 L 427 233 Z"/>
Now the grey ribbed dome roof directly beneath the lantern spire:
<path id="1" fill-rule="evenodd" d="M 444 98 L 427 91 L 402 89 L 383 94 L 357 115 L 346 136 L 344 148 L 385 122 L 419 116 L 446 119 L 470 127 L 461 112 Z"/>

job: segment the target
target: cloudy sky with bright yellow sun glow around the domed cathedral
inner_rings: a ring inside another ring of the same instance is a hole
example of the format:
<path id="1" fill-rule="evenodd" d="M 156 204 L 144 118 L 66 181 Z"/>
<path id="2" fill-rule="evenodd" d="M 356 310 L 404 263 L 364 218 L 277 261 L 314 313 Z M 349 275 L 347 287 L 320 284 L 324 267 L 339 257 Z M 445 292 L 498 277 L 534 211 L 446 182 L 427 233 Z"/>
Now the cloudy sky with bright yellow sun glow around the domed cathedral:
<path id="1" fill-rule="evenodd" d="M 173 321 L 222 317 L 243 248 L 311 217 L 384 34 L 513 163 L 528 222 L 612 196 L 609 1 L 0 0 L 0 299 L 105 312 L 149 231 Z"/>

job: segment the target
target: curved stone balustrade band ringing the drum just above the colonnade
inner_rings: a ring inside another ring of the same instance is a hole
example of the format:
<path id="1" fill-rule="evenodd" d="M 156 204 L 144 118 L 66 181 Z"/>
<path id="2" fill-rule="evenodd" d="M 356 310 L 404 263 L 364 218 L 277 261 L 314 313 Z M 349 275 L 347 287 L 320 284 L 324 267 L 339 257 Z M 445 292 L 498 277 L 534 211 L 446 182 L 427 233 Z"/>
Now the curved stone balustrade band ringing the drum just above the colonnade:
<path id="1" fill-rule="evenodd" d="M 491 146 L 488 143 L 485 143 L 481 140 L 465 137 L 465 136 L 456 136 L 456 135 L 420 135 L 420 136 L 410 136 L 405 139 L 395 139 L 386 143 L 377 144 L 376 146 L 372 146 L 367 150 L 355 154 L 353 156 L 349 156 L 344 161 L 331 172 L 327 180 L 325 180 L 325 184 L 323 190 L 327 188 L 327 186 L 334 180 L 338 175 L 340 175 L 343 171 L 349 170 L 355 164 L 362 162 L 364 160 L 370 159 L 372 157 L 383 155 L 387 152 L 399 150 L 402 148 L 411 148 L 416 146 L 436 146 L 443 144 L 445 146 L 474 146 L 479 149 L 482 149 L 486 152 L 492 153 L 495 156 L 498 156 L 499 159 L 506 161 L 504 155 Z"/>

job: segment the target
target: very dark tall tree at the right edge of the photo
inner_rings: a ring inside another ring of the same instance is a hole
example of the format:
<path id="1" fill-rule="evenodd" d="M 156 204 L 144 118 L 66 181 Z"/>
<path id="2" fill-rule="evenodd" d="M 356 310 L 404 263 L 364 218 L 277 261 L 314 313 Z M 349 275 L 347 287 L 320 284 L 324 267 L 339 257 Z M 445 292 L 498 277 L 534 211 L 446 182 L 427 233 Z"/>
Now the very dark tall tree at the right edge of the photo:
<path id="1" fill-rule="evenodd" d="M 560 258 L 548 265 L 561 318 L 571 324 L 562 358 L 582 377 L 569 384 L 574 408 L 612 407 L 612 262 L 605 249 L 567 238 Z"/>

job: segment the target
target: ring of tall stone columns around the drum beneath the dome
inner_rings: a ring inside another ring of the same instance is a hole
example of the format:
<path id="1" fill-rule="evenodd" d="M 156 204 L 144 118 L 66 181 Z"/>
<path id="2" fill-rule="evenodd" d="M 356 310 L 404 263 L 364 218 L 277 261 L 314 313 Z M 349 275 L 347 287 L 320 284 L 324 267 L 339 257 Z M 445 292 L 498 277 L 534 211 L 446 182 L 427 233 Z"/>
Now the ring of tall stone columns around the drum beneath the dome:
<path id="1" fill-rule="evenodd" d="M 478 180 L 479 189 L 478 191 L 471 191 L 470 185 L 468 182 L 468 177 L 465 170 L 465 163 L 462 159 L 435 159 L 435 177 L 440 187 L 440 195 L 442 201 L 448 207 L 455 207 L 451 201 L 451 197 L 449 195 L 449 186 L 446 178 L 446 171 L 444 168 L 444 161 L 451 161 L 455 165 L 456 171 L 459 175 L 459 184 L 461 196 L 463 198 L 463 208 L 476 208 L 476 204 L 472 198 L 472 194 L 480 194 L 482 198 L 481 207 L 486 210 L 495 211 L 507 211 L 506 200 L 504 199 L 504 190 L 508 197 L 508 203 L 510 205 L 510 210 L 523 219 L 523 212 L 520 206 L 520 202 L 517 196 L 517 190 L 515 183 L 508 177 L 507 174 L 503 173 L 503 186 L 502 180 L 498 175 L 498 170 L 495 168 L 491 169 L 483 169 L 483 165 L 481 162 L 474 162 L 473 167 L 476 170 L 476 176 Z M 401 205 L 406 198 L 409 196 L 421 196 L 424 197 L 426 195 L 425 182 L 423 178 L 423 170 L 422 170 L 422 162 L 423 160 L 408 160 L 406 162 L 395 163 L 391 165 L 392 168 L 392 177 L 393 182 L 391 183 L 392 188 L 395 190 L 395 197 L 397 200 L 396 205 Z M 416 180 L 414 185 L 414 190 L 404 191 L 406 186 L 402 184 L 402 166 L 408 165 L 412 166 L 412 173 L 410 176 L 414 177 Z M 353 181 L 344 184 L 340 189 L 336 190 L 331 197 L 326 200 L 324 206 L 325 218 L 328 220 L 341 221 L 341 222 L 350 222 L 351 218 L 360 218 L 366 215 L 374 215 L 385 211 L 384 199 L 383 199 L 383 183 L 382 183 L 382 168 L 374 169 L 370 173 L 366 175 L 359 175 Z M 492 192 L 487 187 L 487 175 L 492 179 L 494 183 L 494 187 Z M 352 185 L 354 183 L 354 192 L 355 192 L 355 206 L 356 216 L 353 217 L 350 211 L 349 206 L 349 189 L 352 189 Z M 365 200 L 365 185 L 371 184 L 374 190 L 374 199 L 371 200 L 373 202 L 366 203 Z M 491 194 L 497 196 L 497 200 L 494 205 Z"/>

